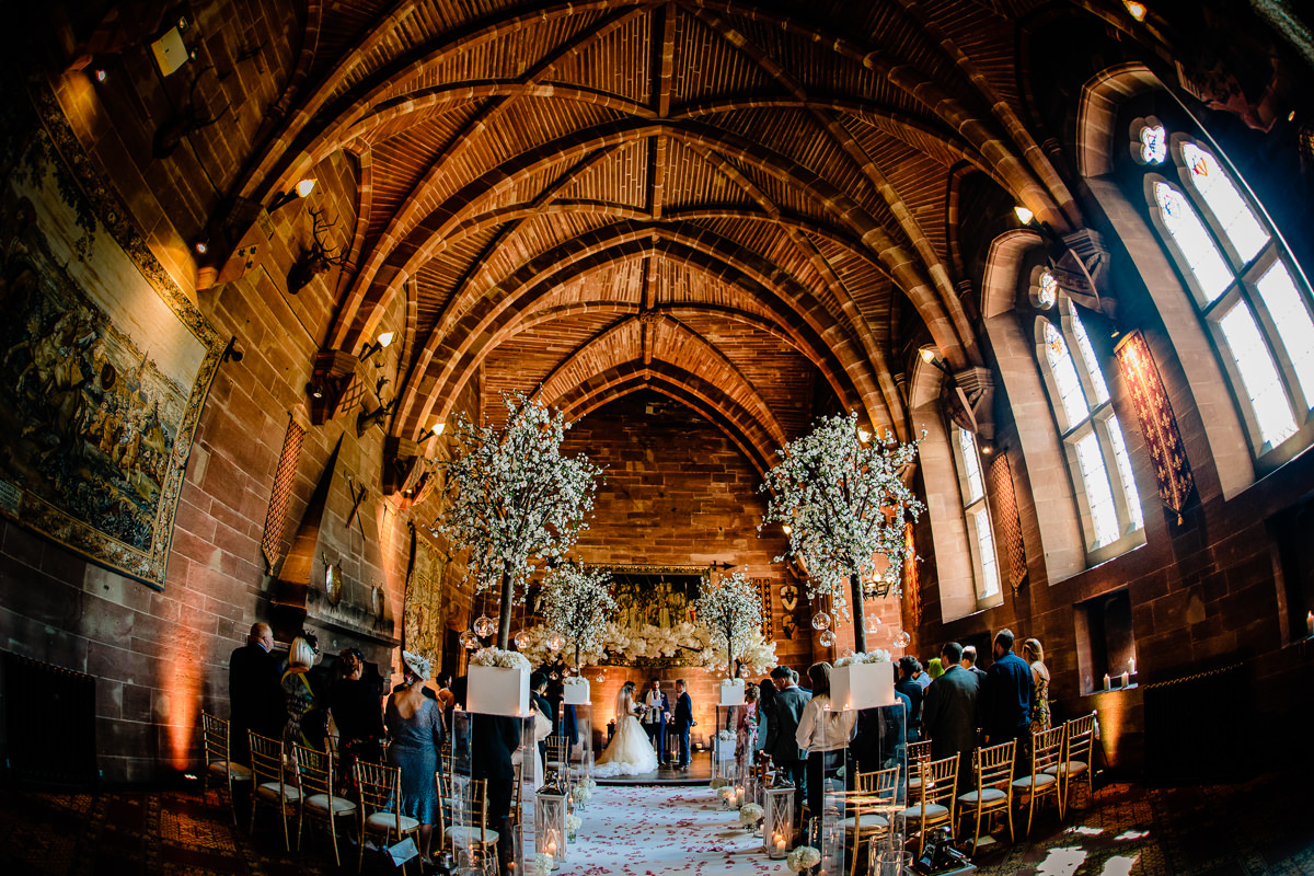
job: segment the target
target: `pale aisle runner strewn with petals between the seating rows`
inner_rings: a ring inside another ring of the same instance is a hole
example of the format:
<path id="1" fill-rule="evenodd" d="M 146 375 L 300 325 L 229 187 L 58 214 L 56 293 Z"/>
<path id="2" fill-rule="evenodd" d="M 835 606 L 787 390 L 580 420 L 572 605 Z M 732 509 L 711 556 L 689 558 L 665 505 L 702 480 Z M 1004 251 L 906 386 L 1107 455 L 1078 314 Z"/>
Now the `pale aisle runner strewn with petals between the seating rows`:
<path id="1" fill-rule="evenodd" d="M 644 788 L 599 785 L 570 846 L 570 860 L 555 876 L 746 876 L 784 873 L 783 860 L 762 852 L 762 838 L 720 808 L 707 787 Z"/>

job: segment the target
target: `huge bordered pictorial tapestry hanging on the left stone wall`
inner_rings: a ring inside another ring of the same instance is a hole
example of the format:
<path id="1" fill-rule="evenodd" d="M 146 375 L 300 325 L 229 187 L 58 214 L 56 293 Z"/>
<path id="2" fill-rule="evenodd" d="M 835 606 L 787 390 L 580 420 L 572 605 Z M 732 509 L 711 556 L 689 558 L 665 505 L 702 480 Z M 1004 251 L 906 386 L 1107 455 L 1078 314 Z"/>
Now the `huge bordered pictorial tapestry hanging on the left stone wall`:
<path id="1" fill-rule="evenodd" d="M 0 106 L 0 514 L 163 588 L 225 344 L 34 102 Z"/>

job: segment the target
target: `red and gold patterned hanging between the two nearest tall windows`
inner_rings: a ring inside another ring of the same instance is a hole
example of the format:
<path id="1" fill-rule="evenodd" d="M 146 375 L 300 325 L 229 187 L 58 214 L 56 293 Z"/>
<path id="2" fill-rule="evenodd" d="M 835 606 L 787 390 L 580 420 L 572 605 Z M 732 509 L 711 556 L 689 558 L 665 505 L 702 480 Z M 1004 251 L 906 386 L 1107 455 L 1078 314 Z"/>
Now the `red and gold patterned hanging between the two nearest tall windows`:
<path id="1" fill-rule="evenodd" d="M 1190 477 L 1190 462 L 1187 460 L 1187 448 L 1181 444 L 1168 391 L 1150 355 L 1150 344 L 1139 331 L 1133 331 L 1118 341 L 1114 353 L 1131 394 L 1131 405 L 1137 408 L 1146 452 L 1154 464 L 1159 498 L 1177 515 L 1177 523 L 1181 524 L 1181 512 L 1190 499 L 1194 479 Z"/>

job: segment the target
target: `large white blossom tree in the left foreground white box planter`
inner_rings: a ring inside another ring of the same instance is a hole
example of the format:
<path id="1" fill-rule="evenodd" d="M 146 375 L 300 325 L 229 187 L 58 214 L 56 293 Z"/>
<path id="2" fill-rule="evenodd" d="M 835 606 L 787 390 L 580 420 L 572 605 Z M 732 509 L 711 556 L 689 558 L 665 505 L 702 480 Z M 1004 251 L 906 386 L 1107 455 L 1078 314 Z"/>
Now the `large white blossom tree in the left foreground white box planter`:
<path id="1" fill-rule="evenodd" d="M 438 531 L 470 552 L 476 590 L 501 591 L 498 646 L 511 637 L 511 605 L 536 561 L 562 557 L 587 528 L 602 469 L 587 457 L 568 458 L 561 443 L 569 424 L 523 393 L 502 397 L 506 427 L 476 427 L 461 416 L 447 465 L 447 507 Z"/>

